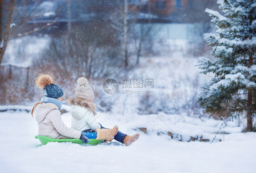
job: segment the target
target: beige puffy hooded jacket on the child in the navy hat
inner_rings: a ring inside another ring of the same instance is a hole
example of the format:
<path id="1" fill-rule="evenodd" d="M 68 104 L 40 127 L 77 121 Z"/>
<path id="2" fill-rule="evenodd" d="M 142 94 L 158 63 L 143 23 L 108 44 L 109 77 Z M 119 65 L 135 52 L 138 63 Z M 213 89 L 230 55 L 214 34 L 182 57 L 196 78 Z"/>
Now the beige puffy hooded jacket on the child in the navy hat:
<path id="1" fill-rule="evenodd" d="M 80 138 L 81 132 L 67 127 L 61 120 L 59 107 L 53 103 L 42 103 L 36 107 L 38 135 L 52 139 Z"/>

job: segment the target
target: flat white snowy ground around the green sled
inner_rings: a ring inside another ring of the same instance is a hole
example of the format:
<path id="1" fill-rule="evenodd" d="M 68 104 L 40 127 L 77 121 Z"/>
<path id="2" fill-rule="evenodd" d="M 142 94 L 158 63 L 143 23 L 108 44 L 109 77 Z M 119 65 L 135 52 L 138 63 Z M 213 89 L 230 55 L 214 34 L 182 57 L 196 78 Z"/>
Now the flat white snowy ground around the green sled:
<path id="1" fill-rule="evenodd" d="M 41 143 L 37 123 L 30 113 L 0 112 L 0 172 L 1 173 L 251 173 L 256 162 L 256 133 L 241 133 L 236 122 L 227 122 L 216 140 L 210 144 L 222 121 L 200 120 L 179 115 L 119 116 L 97 112 L 97 121 L 105 127 L 119 126 L 121 132 L 136 133 L 137 142 L 126 147 L 119 142 L 97 146 L 73 143 Z M 69 112 L 62 120 L 70 126 Z M 180 142 L 166 134 L 203 135 L 210 142 Z M 230 133 L 230 134 L 226 134 Z M 222 142 L 217 142 L 222 139 Z"/>

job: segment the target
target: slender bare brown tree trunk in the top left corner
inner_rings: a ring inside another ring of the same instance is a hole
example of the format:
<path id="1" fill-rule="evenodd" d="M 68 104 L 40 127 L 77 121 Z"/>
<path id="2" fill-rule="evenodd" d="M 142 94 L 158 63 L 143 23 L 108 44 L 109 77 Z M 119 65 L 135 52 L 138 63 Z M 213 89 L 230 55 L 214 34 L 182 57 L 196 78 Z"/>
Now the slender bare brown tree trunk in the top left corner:
<path id="1" fill-rule="evenodd" d="M 2 0 L 0 0 L 0 22 L 2 23 L 3 19 L 2 19 L 2 8 L 3 8 L 3 4 L 2 4 Z M 6 20 L 6 23 L 5 23 L 5 26 L 4 26 L 4 36 L 2 36 L 2 26 L 0 28 L 0 38 L 1 38 L 1 43 L 0 43 L 0 65 L 1 65 L 1 62 L 3 60 L 3 56 L 5 54 L 5 50 L 6 50 L 6 47 L 7 47 L 7 43 L 9 41 L 9 35 L 10 35 L 10 22 L 11 22 L 11 18 L 12 18 L 12 11 L 13 11 L 13 7 L 14 7 L 14 2 L 15 0 L 10 0 L 10 6 L 9 6 L 9 10 L 8 10 L 8 16 L 7 16 L 7 20 Z"/>

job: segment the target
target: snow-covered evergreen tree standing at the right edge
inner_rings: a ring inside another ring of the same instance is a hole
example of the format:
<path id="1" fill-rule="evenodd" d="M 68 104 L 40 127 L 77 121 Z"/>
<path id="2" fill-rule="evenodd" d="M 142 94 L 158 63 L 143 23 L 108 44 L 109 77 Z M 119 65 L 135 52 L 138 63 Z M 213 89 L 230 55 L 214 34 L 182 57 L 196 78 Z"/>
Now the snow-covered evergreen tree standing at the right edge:
<path id="1" fill-rule="evenodd" d="M 219 12 L 213 16 L 216 33 L 205 34 L 215 61 L 201 59 L 202 73 L 214 73 L 202 87 L 199 102 L 205 112 L 218 117 L 247 117 L 246 132 L 251 132 L 256 114 L 256 0 L 218 0 Z"/>

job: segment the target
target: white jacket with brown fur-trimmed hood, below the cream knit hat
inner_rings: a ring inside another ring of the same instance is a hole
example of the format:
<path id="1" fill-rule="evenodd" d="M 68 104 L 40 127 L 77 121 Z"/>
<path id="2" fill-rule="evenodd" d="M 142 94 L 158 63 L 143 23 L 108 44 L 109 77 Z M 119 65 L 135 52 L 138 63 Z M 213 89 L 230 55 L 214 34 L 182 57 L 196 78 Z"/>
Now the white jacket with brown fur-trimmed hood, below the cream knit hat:
<path id="1" fill-rule="evenodd" d="M 91 129 L 93 132 L 101 128 L 95 118 L 96 105 L 82 99 L 70 98 L 67 102 L 71 105 L 71 127 L 78 131 Z"/>

